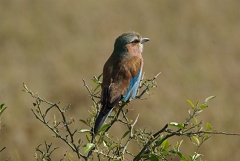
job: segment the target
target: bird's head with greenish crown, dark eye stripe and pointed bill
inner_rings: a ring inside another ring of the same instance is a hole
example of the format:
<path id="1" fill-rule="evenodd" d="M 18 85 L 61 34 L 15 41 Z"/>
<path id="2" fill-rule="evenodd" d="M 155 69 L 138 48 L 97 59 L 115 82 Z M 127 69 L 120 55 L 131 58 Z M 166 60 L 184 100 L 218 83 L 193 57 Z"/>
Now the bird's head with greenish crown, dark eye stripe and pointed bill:
<path id="1" fill-rule="evenodd" d="M 139 49 L 142 52 L 143 43 L 149 41 L 149 38 L 142 38 L 137 32 L 127 32 L 120 35 L 114 44 L 115 50 Z"/>

